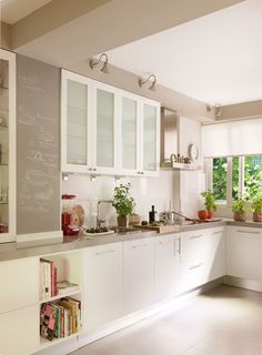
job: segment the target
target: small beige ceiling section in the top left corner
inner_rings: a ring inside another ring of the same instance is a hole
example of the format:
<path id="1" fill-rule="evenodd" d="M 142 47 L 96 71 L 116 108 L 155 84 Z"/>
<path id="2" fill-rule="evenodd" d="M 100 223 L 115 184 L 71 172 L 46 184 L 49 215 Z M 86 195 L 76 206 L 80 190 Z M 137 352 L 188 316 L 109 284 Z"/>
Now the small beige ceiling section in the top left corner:
<path id="1" fill-rule="evenodd" d="M 1 20 L 13 24 L 51 0 L 0 0 Z"/>

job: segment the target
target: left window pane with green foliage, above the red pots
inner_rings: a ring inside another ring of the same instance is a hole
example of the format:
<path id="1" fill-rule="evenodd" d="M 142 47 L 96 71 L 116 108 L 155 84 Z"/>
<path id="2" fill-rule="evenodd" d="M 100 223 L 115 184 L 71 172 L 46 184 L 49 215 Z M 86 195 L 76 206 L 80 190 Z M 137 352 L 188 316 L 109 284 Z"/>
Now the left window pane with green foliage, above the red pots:
<path id="1" fill-rule="evenodd" d="M 213 192 L 215 200 L 219 202 L 226 201 L 226 158 L 213 159 Z"/>

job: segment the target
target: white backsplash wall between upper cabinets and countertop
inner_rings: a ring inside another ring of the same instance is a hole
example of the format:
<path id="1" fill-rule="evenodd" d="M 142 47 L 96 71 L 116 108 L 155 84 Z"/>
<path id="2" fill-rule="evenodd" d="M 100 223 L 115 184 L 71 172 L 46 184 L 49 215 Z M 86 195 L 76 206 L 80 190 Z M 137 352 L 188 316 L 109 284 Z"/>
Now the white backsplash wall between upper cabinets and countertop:
<path id="1" fill-rule="evenodd" d="M 180 200 L 182 212 L 195 216 L 199 206 L 199 193 L 204 190 L 204 175 L 200 172 L 160 171 L 159 178 L 124 178 L 115 181 L 114 176 L 97 176 L 72 174 L 68 181 L 62 181 L 62 193 L 78 196 L 85 211 L 85 225 L 94 226 L 97 220 L 97 203 L 99 200 L 111 200 L 113 189 L 119 183 L 130 182 L 131 194 L 135 201 L 135 213 L 142 220 L 148 220 L 151 205 L 155 211 L 178 211 Z M 117 224 L 115 210 L 110 204 L 101 205 L 101 215 L 107 217 L 109 225 Z"/>

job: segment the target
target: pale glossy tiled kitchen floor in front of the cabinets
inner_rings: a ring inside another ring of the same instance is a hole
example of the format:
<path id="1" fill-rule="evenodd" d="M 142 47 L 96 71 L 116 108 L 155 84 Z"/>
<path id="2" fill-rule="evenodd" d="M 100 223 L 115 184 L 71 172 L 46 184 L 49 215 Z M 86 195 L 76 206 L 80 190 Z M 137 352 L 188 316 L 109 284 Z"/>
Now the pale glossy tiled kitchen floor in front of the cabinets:
<path id="1" fill-rule="evenodd" d="M 220 286 L 71 355 L 262 355 L 262 294 Z"/>

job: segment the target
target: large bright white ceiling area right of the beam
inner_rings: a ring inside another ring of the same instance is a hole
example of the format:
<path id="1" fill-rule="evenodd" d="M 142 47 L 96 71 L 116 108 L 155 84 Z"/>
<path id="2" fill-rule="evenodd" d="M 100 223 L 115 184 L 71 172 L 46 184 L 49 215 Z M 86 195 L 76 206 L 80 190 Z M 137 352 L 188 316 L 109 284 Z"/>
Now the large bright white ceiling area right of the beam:
<path id="1" fill-rule="evenodd" d="M 117 67 L 138 75 L 153 72 L 159 83 L 205 103 L 261 100 L 262 0 L 246 0 L 108 55 Z"/>

